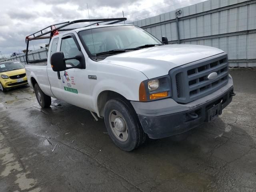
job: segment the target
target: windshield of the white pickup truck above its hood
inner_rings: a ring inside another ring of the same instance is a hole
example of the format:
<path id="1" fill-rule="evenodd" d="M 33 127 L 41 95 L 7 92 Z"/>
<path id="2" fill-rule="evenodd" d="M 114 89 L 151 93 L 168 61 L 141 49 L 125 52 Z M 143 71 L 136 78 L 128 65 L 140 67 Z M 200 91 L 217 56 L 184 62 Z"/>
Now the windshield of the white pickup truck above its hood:
<path id="1" fill-rule="evenodd" d="M 94 28 L 81 31 L 79 34 L 92 55 L 116 49 L 162 44 L 157 38 L 137 26 Z"/>

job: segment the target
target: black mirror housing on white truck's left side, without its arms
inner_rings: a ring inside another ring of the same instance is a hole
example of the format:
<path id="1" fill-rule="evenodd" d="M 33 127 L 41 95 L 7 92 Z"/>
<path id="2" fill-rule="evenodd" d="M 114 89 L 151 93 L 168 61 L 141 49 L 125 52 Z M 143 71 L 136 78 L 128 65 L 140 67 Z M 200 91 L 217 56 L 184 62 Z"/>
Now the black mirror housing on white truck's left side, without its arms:
<path id="1" fill-rule="evenodd" d="M 51 56 L 52 70 L 55 72 L 66 70 L 66 62 L 63 52 L 56 52 Z"/>

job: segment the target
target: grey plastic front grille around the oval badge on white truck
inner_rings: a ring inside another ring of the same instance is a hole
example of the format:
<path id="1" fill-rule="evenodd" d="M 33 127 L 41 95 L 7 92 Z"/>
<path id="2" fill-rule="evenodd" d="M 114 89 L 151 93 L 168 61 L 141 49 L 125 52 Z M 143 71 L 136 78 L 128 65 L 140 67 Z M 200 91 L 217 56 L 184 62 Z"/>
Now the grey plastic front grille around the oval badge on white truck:
<path id="1" fill-rule="evenodd" d="M 208 75 L 217 73 L 214 80 Z M 173 98 L 188 103 L 202 98 L 228 83 L 228 58 L 226 54 L 212 56 L 170 70 Z"/>

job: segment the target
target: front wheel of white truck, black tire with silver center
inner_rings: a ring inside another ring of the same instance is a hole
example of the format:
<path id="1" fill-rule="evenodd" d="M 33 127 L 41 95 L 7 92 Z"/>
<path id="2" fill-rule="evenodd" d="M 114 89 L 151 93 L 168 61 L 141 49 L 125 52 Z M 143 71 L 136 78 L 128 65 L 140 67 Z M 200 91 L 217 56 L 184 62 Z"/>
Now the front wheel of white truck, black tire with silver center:
<path id="1" fill-rule="evenodd" d="M 104 108 L 104 121 L 110 138 L 122 150 L 131 151 L 145 141 L 134 110 L 122 99 L 108 100 Z"/>

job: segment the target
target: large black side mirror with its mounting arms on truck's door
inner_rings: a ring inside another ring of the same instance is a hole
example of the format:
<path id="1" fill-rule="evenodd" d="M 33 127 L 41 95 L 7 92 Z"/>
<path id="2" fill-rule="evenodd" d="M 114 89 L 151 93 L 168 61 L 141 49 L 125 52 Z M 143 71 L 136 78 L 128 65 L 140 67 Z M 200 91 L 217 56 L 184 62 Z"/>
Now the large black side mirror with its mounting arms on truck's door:
<path id="1" fill-rule="evenodd" d="M 64 71 L 66 69 L 78 68 L 78 66 L 66 67 L 66 60 L 70 60 L 70 59 L 76 59 L 76 60 L 81 61 L 82 56 L 77 55 L 72 58 L 64 58 L 63 52 L 56 52 L 56 53 L 52 54 L 52 57 L 51 57 L 52 70 L 55 72 L 58 72 L 58 71 Z"/>

